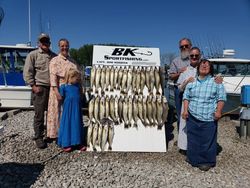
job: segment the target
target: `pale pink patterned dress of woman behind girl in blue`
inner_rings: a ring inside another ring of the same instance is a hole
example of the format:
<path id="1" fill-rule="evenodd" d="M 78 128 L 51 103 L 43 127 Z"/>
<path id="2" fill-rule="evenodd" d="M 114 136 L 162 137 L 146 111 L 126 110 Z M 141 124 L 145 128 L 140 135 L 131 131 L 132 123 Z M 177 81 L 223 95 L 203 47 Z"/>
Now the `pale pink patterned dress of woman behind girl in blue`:
<path id="1" fill-rule="evenodd" d="M 47 114 L 47 137 L 57 138 L 58 128 L 60 125 L 61 103 L 57 100 L 56 94 L 52 87 L 60 87 L 65 83 L 65 73 L 70 68 L 77 68 L 76 62 L 61 54 L 54 57 L 50 62 L 50 94 Z"/>

